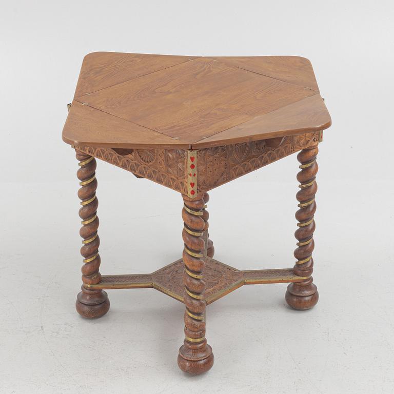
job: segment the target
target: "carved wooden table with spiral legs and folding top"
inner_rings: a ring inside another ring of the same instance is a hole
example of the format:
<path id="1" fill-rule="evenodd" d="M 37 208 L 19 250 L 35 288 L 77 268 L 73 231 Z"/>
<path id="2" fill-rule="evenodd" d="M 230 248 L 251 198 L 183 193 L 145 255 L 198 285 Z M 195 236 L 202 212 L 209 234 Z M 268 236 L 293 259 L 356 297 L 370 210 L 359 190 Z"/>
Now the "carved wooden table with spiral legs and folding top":
<path id="1" fill-rule="evenodd" d="M 109 309 L 104 289 L 151 287 L 183 302 L 178 365 L 198 374 L 213 364 L 206 305 L 243 285 L 290 283 L 291 307 L 314 306 L 316 156 L 330 124 L 304 57 L 85 56 L 63 130 L 80 166 L 84 265 L 77 311 L 86 318 L 103 316 Z M 243 271 L 214 260 L 207 191 L 297 151 L 294 267 Z M 153 273 L 100 274 L 95 157 L 182 193 L 182 259 Z"/>

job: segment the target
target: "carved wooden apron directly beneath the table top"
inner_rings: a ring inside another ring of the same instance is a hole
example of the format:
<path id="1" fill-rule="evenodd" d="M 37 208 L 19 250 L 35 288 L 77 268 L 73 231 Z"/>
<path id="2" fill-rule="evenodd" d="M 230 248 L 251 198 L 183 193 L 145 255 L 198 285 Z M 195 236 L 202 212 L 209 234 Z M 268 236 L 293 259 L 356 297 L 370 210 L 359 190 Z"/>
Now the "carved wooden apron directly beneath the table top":
<path id="1" fill-rule="evenodd" d="M 314 142 L 319 142 L 319 131 L 284 137 L 277 147 L 269 147 L 265 140 L 261 140 L 197 150 L 197 192 L 223 185 Z M 132 149 L 129 154 L 121 155 L 111 148 L 75 148 L 183 194 L 189 192 L 189 196 L 192 196 L 187 150 Z"/>

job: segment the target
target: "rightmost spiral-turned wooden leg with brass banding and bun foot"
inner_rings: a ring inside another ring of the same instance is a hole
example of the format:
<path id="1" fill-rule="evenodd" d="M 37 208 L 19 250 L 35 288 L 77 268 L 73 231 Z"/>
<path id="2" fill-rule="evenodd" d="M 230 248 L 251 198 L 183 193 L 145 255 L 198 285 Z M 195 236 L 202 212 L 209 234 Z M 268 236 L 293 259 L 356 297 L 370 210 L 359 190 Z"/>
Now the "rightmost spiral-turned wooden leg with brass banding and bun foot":
<path id="1" fill-rule="evenodd" d="M 301 190 L 297 193 L 299 210 L 295 213 L 298 229 L 294 235 L 298 240 L 298 247 L 294 250 L 294 257 L 297 259 L 294 265 L 294 273 L 300 277 L 310 278 L 303 282 L 291 283 L 287 287 L 286 301 L 294 309 L 312 308 L 319 300 L 317 287 L 312 283 L 313 278 L 310 276 L 313 272 L 312 252 L 314 248 L 313 231 L 315 229 L 313 215 L 316 211 L 314 196 L 318 190 L 316 183 L 318 172 L 316 156 L 318 151 L 318 143 L 316 143 L 303 149 L 297 156 L 301 163 L 301 171 L 297 174 Z"/>

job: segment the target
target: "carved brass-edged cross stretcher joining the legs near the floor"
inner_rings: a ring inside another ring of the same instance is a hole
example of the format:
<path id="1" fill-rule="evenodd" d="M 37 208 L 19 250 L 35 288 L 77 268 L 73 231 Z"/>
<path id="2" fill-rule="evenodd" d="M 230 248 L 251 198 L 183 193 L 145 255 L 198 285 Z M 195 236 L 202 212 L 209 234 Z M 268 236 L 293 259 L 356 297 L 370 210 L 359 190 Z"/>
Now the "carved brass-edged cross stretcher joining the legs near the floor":
<path id="1" fill-rule="evenodd" d="M 204 299 L 208 304 L 243 285 L 302 282 L 292 268 L 240 271 L 217 260 L 205 257 L 203 280 L 206 283 Z M 175 300 L 183 302 L 185 285 L 183 260 L 177 260 L 150 274 L 102 275 L 100 283 L 86 285 L 91 289 L 155 288 Z"/>

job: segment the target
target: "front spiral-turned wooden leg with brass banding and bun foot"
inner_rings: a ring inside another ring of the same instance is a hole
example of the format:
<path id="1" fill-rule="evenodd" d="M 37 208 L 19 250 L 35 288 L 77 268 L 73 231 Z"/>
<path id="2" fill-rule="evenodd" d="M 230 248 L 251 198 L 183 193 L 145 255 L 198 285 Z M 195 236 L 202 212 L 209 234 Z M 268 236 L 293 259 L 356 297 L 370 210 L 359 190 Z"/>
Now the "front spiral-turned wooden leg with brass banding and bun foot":
<path id="1" fill-rule="evenodd" d="M 185 340 L 179 349 L 178 365 L 191 375 L 206 372 L 213 365 L 213 353 L 205 339 L 205 301 L 203 281 L 204 262 L 204 231 L 206 222 L 203 212 L 205 201 L 203 194 L 189 199 L 183 195 L 184 208 L 182 232 L 185 248 L 183 251 L 184 271 L 184 302 L 185 302 Z"/>

